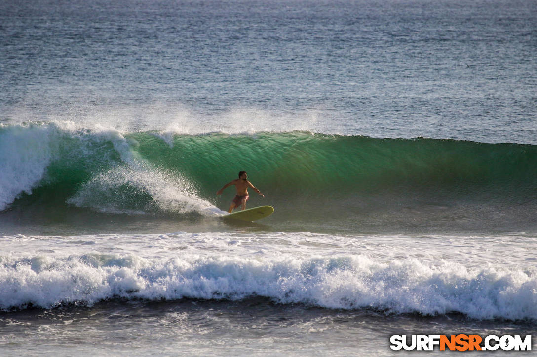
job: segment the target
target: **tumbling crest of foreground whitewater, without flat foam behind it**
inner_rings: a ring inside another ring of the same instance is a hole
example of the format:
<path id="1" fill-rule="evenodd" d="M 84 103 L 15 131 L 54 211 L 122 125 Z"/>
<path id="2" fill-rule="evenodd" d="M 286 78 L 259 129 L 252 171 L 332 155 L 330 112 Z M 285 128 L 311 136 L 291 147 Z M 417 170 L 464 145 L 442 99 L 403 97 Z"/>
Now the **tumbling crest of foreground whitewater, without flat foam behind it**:
<path id="1" fill-rule="evenodd" d="M 93 304 L 112 298 L 242 300 L 330 309 L 376 309 L 390 314 L 462 313 L 471 318 L 537 319 L 537 272 L 432 265 L 416 259 L 379 262 L 340 257 L 184 254 L 79 254 L 4 257 L 0 308 L 31 304 Z"/>

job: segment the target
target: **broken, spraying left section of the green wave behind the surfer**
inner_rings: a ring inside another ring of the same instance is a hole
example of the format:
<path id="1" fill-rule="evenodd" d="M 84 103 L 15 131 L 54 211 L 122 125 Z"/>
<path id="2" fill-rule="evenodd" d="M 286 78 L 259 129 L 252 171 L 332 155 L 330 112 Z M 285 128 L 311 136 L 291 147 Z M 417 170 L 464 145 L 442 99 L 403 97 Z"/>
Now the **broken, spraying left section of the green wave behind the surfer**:
<path id="1" fill-rule="evenodd" d="M 151 167 L 134 150 L 135 142 L 116 130 L 57 122 L 4 125 L 0 145 L 0 209 L 38 188 L 35 196 L 60 196 L 66 204 L 99 212 L 219 211 L 196 197 L 180 173 Z M 47 204 L 40 197 L 35 202 Z"/>

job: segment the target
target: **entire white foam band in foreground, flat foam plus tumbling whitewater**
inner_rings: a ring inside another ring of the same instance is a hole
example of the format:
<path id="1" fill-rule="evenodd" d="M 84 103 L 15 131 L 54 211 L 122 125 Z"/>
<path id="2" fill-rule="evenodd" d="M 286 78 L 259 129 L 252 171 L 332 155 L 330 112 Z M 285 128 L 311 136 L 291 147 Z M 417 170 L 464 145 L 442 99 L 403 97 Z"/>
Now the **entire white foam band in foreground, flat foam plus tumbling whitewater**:
<path id="1" fill-rule="evenodd" d="M 395 239 L 404 246 L 387 244 Z M 3 251 L 11 252 L 2 255 L 0 307 L 253 295 L 336 309 L 537 318 L 537 268 L 524 264 L 531 257 L 498 258 L 494 244 L 486 252 L 442 255 L 445 237 L 426 237 L 432 246 L 422 255 L 422 240 L 306 233 L 5 237 Z"/>

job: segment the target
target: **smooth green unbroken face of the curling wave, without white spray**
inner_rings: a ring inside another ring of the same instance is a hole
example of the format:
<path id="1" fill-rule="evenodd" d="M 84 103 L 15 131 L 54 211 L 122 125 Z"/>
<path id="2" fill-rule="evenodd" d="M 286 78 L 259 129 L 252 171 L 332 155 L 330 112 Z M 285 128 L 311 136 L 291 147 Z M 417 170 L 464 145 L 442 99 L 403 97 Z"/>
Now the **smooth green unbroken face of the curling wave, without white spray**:
<path id="1" fill-rule="evenodd" d="M 512 195 L 531 191 L 537 182 L 532 145 L 304 132 L 175 136 L 169 143 L 150 133 L 129 138 L 142 158 L 186 176 L 206 197 L 240 170 L 280 199 L 485 189 Z"/>

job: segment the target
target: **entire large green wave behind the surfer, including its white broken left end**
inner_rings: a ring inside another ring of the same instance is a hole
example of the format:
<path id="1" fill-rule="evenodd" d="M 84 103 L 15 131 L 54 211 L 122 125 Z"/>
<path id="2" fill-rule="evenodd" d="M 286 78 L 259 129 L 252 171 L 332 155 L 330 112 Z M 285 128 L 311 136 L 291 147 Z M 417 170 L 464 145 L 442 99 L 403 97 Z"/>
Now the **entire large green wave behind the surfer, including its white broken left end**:
<path id="1" fill-rule="evenodd" d="M 310 132 L 120 134 L 51 124 L 0 128 L 0 145 L 13 136 L 22 144 L 2 157 L 12 170 L 0 178 L 4 211 L 210 215 L 235 194 L 228 188 L 218 198 L 216 191 L 245 170 L 266 196 L 250 192 L 249 207 L 272 205 L 269 220 L 301 222 L 296 229 L 535 226 L 534 145 Z M 40 155 L 24 145 L 40 138 L 47 141 Z"/>

